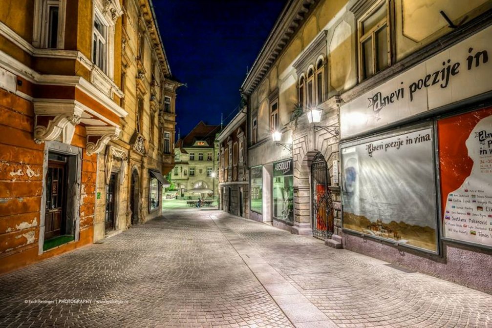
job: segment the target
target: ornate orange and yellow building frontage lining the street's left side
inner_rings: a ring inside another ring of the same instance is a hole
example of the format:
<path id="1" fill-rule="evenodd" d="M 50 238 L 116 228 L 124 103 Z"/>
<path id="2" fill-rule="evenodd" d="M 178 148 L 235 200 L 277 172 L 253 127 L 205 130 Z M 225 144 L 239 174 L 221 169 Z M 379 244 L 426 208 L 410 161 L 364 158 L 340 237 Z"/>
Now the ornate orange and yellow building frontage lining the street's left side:
<path id="1" fill-rule="evenodd" d="M 173 166 L 160 133 L 167 129 L 172 145 L 179 84 L 148 0 L 2 1 L 0 8 L 0 272 L 7 272 L 126 229 L 135 170 L 138 222 L 157 215 L 146 208 Z M 143 60 L 134 60 L 136 35 L 145 39 Z"/>

